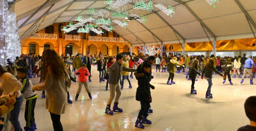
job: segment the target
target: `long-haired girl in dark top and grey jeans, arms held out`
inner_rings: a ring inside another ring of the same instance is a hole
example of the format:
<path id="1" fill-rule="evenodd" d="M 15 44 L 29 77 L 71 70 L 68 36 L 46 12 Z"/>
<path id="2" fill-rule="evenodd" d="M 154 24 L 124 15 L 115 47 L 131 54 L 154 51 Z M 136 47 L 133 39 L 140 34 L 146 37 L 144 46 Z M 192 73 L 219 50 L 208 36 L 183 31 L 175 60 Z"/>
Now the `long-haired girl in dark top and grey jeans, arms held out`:
<path id="1" fill-rule="evenodd" d="M 212 83 L 213 71 L 218 75 L 222 76 L 223 79 L 225 78 L 225 76 L 223 76 L 220 72 L 218 72 L 217 69 L 214 67 L 214 59 L 210 58 L 208 62 L 206 62 L 204 66 L 204 70 L 202 72 L 202 76 L 201 76 L 201 79 L 206 79 L 209 84 L 208 89 L 206 91 L 206 95 L 205 95 L 206 98 L 213 98 L 213 94 L 211 94 L 211 87 L 213 86 L 213 83 Z"/>

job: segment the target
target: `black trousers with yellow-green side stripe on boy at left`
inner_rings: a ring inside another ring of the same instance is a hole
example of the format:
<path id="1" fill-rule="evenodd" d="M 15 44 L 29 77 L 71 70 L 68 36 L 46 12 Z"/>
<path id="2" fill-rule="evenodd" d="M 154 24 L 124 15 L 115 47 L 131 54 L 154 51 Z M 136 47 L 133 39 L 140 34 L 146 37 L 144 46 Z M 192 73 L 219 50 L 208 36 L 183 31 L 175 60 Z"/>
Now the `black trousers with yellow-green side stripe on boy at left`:
<path id="1" fill-rule="evenodd" d="M 34 121 L 35 121 L 35 113 L 34 113 L 34 109 L 36 106 L 36 99 L 37 97 L 33 98 L 33 99 L 27 99 L 26 100 L 26 108 L 25 108 L 25 121 L 26 121 L 26 126 L 27 127 L 31 127 L 34 126 Z"/>

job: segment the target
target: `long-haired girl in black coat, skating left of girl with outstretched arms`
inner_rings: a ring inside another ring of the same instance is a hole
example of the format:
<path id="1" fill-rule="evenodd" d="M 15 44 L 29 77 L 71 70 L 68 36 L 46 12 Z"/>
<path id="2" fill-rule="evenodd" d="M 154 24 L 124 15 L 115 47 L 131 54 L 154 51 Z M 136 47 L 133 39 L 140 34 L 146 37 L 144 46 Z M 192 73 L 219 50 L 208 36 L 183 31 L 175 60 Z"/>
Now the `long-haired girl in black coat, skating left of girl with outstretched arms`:
<path id="1" fill-rule="evenodd" d="M 199 60 L 195 60 L 193 62 L 192 68 L 190 68 L 190 71 L 189 71 L 189 78 L 191 78 L 191 81 L 192 81 L 190 94 L 197 94 L 197 92 L 195 90 L 195 87 L 194 87 L 195 79 L 196 79 L 197 74 L 199 76 L 201 76 L 201 74 L 197 71 L 198 70 L 198 63 L 199 63 Z"/>

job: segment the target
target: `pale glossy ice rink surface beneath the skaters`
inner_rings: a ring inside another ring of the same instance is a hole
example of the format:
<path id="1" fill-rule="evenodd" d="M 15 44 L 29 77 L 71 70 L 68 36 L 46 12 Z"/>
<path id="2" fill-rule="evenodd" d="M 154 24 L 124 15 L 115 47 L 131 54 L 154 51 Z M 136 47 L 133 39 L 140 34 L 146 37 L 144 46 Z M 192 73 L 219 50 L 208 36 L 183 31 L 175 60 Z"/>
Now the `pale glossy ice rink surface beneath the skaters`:
<path id="1" fill-rule="evenodd" d="M 162 68 L 162 67 L 161 67 Z M 73 76 L 72 72 L 72 76 Z M 167 85 L 169 73 L 156 72 L 152 67 L 154 79 L 150 82 L 156 88 L 151 89 L 153 113 L 148 119 L 152 125 L 145 125 L 145 131 L 237 131 L 241 126 L 249 124 L 244 112 L 244 102 L 249 96 L 256 95 L 256 81 L 250 85 L 249 78 L 232 78 L 231 86 L 227 80 L 222 84 L 223 77 L 213 75 L 211 93 L 213 98 L 205 98 L 208 82 L 198 78 L 195 82 L 197 94 L 190 94 L 191 81 L 185 78 L 185 72 L 175 74 L 176 84 Z M 134 75 L 133 75 L 134 76 Z M 232 72 L 233 76 L 233 72 Z M 247 74 L 247 77 L 249 75 Z M 140 102 L 135 94 L 137 80 L 130 78 L 132 89 L 125 80 L 118 107 L 123 113 L 105 114 L 109 90 L 106 91 L 106 81 L 99 82 L 99 72 L 92 66 L 92 82 L 88 82 L 93 99 L 89 99 L 85 88 L 82 88 L 78 101 L 74 100 L 78 82 L 71 82 L 69 91 L 73 104 L 67 105 L 67 111 L 61 115 L 64 131 L 133 131 L 140 110 Z M 31 78 L 33 85 L 39 84 L 40 77 Z M 78 81 L 78 77 L 76 78 Z M 37 131 L 53 131 L 50 113 L 45 109 L 45 99 L 42 91 L 36 91 L 38 98 L 35 107 L 35 122 Z M 26 126 L 24 119 L 24 99 L 19 115 L 21 127 Z M 114 101 L 112 102 L 111 109 Z M 167 129 L 168 128 L 168 129 Z"/>

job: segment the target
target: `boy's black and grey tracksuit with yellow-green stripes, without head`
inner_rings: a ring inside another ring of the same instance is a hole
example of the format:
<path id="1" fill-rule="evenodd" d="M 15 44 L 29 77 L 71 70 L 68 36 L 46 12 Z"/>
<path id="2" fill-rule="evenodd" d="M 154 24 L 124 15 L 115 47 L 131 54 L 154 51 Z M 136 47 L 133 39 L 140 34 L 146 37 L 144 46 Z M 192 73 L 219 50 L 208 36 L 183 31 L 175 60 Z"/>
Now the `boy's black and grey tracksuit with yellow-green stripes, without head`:
<path id="1" fill-rule="evenodd" d="M 36 92 L 32 91 L 33 84 L 31 80 L 28 78 L 28 76 L 25 76 L 21 79 L 22 88 L 21 93 L 22 96 L 26 99 L 26 108 L 25 108 L 25 120 L 26 120 L 26 126 L 32 127 L 34 126 L 34 109 L 36 106 Z"/>

